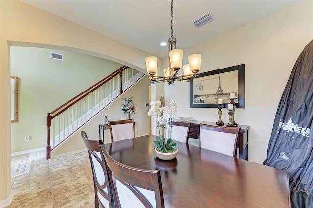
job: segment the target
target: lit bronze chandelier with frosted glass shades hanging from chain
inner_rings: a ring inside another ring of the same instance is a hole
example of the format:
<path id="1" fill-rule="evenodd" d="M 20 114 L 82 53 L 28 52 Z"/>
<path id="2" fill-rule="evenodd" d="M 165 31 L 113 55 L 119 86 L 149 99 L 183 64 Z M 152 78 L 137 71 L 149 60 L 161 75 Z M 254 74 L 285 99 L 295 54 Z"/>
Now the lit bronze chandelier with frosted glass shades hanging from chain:
<path id="1" fill-rule="evenodd" d="M 189 64 L 183 66 L 183 74 L 181 73 L 183 50 L 176 49 L 176 38 L 173 36 L 173 0 L 171 1 L 171 37 L 168 39 L 168 52 L 168 68 L 163 69 L 163 76 L 157 75 L 157 57 L 146 58 L 146 67 L 152 84 L 166 81 L 170 85 L 177 80 L 189 82 L 199 73 L 201 54 L 188 56 Z"/>

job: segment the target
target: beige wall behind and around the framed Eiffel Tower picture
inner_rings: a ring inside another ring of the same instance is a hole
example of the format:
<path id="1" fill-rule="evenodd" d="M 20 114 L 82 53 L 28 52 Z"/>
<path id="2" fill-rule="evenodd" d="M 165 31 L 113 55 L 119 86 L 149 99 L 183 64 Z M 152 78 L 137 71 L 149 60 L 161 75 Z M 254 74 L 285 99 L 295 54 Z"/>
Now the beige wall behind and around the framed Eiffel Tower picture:
<path id="1" fill-rule="evenodd" d="M 297 57 L 312 39 L 313 1 L 304 1 L 184 50 L 185 58 L 201 53 L 201 72 L 245 64 L 245 109 L 236 110 L 235 121 L 250 126 L 249 161 L 266 159 L 280 97 Z M 189 83 L 165 85 L 165 98 L 176 100 L 179 116 L 218 120 L 217 109 L 189 108 Z M 224 109 L 224 122 L 227 113 Z"/>

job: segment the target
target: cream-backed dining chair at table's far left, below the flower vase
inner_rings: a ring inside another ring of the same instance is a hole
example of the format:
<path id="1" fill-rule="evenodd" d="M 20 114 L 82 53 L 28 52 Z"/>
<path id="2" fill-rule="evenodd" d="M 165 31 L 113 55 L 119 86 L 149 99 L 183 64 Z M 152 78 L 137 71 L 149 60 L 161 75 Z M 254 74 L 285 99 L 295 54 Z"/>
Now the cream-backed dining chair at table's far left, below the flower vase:
<path id="1" fill-rule="evenodd" d="M 134 138 L 134 119 L 109 120 L 111 141 L 120 141 Z"/>

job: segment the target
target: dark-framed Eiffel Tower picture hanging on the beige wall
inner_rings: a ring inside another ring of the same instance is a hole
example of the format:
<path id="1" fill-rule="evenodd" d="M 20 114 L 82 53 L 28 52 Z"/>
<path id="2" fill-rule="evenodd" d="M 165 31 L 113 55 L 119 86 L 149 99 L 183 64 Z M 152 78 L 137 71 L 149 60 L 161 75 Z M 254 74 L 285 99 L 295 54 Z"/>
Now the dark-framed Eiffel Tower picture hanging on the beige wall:
<path id="1" fill-rule="evenodd" d="M 235 108 L 245 108 L 245 64 L 208 71 L 190 81 L 190 108 L 223 108 L 235 94 Z"/>

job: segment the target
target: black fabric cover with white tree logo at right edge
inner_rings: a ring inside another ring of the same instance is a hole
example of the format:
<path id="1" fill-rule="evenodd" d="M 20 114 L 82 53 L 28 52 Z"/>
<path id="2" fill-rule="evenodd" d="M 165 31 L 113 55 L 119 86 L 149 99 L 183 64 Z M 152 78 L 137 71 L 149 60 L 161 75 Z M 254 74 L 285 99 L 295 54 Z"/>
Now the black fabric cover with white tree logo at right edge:
<path id="1" fill-rule="evenodd" d="M 288 171 L 292 208 L 313 208 L 312 119 L 313 40 L 305 46 L 291 71 L 264 161 L 265 165 Z"/>

